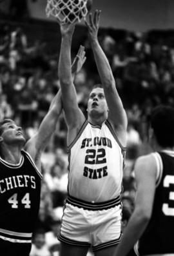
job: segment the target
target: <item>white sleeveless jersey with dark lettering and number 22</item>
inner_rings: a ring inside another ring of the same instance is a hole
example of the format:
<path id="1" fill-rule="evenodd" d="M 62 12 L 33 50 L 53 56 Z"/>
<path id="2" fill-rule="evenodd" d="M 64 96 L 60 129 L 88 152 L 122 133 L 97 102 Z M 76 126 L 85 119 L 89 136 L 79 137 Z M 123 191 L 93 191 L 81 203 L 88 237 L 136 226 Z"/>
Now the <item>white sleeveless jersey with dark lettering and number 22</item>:
<path id="1" fill-rule="evenodd" d="M 93 126 L 86 120 L 68 147 L 68 194 L 93 203 L 118 197 L 125 152 L 109 121 Z"/>

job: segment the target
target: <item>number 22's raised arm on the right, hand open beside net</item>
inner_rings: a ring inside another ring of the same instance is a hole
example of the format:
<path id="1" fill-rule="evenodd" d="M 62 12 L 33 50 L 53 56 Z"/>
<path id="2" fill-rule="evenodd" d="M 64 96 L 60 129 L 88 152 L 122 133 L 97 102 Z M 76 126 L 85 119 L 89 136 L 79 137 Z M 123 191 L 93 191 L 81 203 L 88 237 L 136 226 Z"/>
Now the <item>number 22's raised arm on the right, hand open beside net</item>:
<path id="1" fill-rule="evenodd" d="M 95 62 L 97 64 L 97 69 L 101 77 L 101 83 L 104 88 L 104 94 L 108 103 L 109 118 L 111 119 L 117 130 L 117 134 L 119 136 L 119 139 L 121 140 L 121 143 L 123 145 L 126 145 L 126 112 L 123 108 L 121 98 L 119 97 L 119 94 L 117 92 L 117 88 L 115 86 L 115 79 L 113 77 L 110 64 L 97 38 L 100 15 L 101 11 L 99 10 L 95 10 L 93 19 L 92 14 L 89 15 L 89 21 L 86 21 L 86 26 L 88 27 L 88 37 L 90 39 Z"/>

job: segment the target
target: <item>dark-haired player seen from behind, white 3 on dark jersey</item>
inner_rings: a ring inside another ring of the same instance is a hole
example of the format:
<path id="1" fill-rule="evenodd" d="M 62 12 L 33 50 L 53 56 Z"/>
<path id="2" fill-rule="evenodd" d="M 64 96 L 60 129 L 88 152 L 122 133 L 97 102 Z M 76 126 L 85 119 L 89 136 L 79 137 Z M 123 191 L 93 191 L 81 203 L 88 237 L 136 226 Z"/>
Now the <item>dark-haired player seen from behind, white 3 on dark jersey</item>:
<path id="1" fill-rule="evenodd" d="M 153 153 L 135 162 L 137 198 L 115 256 L 137 242 L 139 255 L 174 255 L 174 109 L 157 106 L 151 113 Z"/>

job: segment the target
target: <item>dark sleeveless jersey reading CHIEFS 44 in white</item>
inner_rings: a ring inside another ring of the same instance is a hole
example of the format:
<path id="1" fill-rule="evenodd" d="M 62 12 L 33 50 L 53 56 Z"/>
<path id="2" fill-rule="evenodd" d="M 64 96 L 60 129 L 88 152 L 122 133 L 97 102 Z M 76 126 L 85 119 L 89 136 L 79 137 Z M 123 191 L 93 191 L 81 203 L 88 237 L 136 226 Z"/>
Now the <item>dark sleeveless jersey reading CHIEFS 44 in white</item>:
<path id="1" fill-rule="evenodd" d="M 19 164 L 0 158 L 0 238 L 31 242 L 39 212 L 41 173 L 27 152 Z"/>

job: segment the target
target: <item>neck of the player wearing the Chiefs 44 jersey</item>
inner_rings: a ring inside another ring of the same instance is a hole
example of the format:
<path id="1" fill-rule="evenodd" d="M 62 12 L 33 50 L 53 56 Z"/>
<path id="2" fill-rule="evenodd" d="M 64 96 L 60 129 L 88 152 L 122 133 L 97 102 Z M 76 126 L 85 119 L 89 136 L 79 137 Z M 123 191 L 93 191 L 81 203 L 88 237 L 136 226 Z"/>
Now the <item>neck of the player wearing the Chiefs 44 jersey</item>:
<path id="1" fill-rule="evenodd" d="M 1 158 L 11 164 L 18 164 L 21 159 L 21 146 L 3 146 Z"/>

